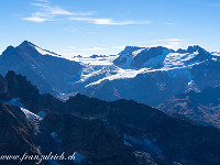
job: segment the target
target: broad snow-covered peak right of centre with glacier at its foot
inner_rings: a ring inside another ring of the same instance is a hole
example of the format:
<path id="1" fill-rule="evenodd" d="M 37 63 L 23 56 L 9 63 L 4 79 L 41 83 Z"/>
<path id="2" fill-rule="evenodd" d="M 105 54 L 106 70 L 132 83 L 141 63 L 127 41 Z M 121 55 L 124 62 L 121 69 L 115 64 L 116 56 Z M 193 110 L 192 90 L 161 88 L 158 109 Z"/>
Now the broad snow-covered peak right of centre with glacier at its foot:
<path id="1" fill-rule="evenodd" d="M 210 56 L 210 53 L 199 46 L 189 46 L 187 50 L 178 50 L 176 52 L 163 46 L 128 46 L 113 61 L 114 65 L 109 67 L 102 66 L 94 70 L 90 69 L 91 72 L 85 73 L 81 76 L 80 82 L 88 81 L 86 87 L 89 87 L 105 80 L 129 79 L 140 74 L 160 70 L 170 74 L 176 72 L 183 74 L 184 72 L 182 73 L 182 70 L 187 72 L 195 65 L 212 59 Z M 217 61 L 216 57 L 212 61 Z M 187 78 L 189 81 L 191 80 L 190 77 L 190 73 L 188 73 Z"/>

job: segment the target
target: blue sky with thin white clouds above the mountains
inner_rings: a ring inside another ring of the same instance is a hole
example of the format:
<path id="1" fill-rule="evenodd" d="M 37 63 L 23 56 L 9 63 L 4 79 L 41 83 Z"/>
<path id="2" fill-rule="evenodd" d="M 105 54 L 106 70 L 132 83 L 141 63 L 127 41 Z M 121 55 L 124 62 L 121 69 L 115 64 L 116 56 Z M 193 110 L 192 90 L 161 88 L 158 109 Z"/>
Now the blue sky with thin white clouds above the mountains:
<path id="1" fill-rule="evenodd" d="M 0 52 L 29 40 L 66 55 L 124 46 L 220 52 L 219 0 L 1 0 Z"/>

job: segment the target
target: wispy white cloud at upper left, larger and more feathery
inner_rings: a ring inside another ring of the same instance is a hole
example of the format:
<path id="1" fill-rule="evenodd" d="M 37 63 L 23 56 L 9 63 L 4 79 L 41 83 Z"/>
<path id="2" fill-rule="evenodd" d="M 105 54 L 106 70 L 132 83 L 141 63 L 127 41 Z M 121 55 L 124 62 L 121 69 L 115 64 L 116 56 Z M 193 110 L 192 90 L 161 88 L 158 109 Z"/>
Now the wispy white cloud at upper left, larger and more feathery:
<path id="1" fill-rule="evenodd" d="M 22 20 L 32 22 L 46 22 L 57 21 L 57 16 L 85 16 L 92 14 L 92 12 L 70 12 L 61 7 L 52 6 L 47 0 L 37 0 L 37 2 L 31 4 L 36 7 L 37 11 L 31 13 L 31 16 L 23 18 Z"/>

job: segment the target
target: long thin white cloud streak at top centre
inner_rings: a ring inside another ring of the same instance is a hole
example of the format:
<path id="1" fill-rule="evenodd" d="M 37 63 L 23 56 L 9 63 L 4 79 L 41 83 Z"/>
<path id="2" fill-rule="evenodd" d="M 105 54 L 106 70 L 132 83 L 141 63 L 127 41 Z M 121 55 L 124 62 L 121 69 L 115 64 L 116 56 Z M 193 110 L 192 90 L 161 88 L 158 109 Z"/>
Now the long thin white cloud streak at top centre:
<path id="1" fill-rule="evenodd" d="M 114 21 L 112 19 L 96 19 L 96 18 L 70 18 L 75 21 L 86 21 L 99 25 L 129 25 L 129 24 L 151 24 L 151 21 Z"/>

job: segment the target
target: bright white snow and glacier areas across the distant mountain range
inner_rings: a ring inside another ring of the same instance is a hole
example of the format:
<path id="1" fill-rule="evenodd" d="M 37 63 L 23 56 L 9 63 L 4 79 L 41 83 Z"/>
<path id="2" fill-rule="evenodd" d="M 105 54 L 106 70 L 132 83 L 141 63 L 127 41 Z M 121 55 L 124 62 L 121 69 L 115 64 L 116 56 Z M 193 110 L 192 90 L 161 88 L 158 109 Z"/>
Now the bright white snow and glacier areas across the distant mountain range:
<path id="1" fill-rule="evenodd" d="M 63 58 L 63 56 L 46 50 L 42 50 L 38 46 L 32 46 L 42 55 L 51 55 Z M 193 79 L 190 75 L 190 68 L 207 61 L 201 58 L 197 59 L 197 56 L 200 56 L 200 52 L 205 51 L 199 46 L 189 46 L 188 50 L 182 50 L 182 52 L 175 52 L 166 47 L 161 47 L 163 48 L 162 54 L 155 56 L 153 55 L 153 57 L 144 62 L 140 68 L 135 68 L 133 65 L 134 58 L 139 58 L 140 56 L 143 57 L 145 54 L 147 55 L 152 48 L 156 50 L 160 48 L 160 46 L 127 46 L 124 51 L 118 55 L 92 55 L 89 57 L 78 55 L 68 59 L 78 62 L 84 66 L 80 73 L 80 79 L 77 80 L 76 84 L 84 84 L 86 88 L 98 85 L 103 80 L 130 79 L 140 74 L 153 72 L 167 72 L 170 77 L 176 75 L 185 75 L 188 78 L 190 87 L 190 81 Z M 150 55 L 152 55 L 152 52 Z M 213 52 L 211 53 L 211 61 L 220 61 L 220 53 Z M 119 65 L 116 64 L 114 61 L 118 61 Z"/>

